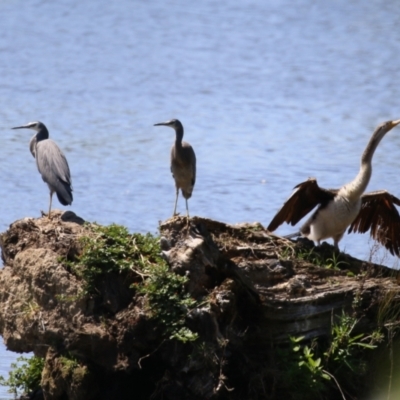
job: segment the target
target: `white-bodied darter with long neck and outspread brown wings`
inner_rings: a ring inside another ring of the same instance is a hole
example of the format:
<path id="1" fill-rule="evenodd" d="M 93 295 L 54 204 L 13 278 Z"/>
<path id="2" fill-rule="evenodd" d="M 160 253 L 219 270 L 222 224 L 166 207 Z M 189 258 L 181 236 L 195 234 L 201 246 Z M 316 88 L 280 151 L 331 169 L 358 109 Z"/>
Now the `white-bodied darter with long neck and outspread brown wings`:
<path id="1" fill-rule="evenodd" d="M 387 121 L 380 124 L 372 134 L 361 157 L 361 166 L 353 181 L 340 189 L 323 189 L 315 178 L 298 184 L 268 226 L 274 231 L 282 223 L 295 225 L 314 207 L 311 217 L 301 226 L 301 234 L 320 244 L 321 240 L 333 238 L 339 249 L 347 227 L 350 232 L 365 233 L 371 236 L 392 254 L 400 256 L 400 216 L 395 207 L 400 200 L 380 190 L 364 193 L 372 174 L 372 157 L 382 138 L 400 123 Z"/>

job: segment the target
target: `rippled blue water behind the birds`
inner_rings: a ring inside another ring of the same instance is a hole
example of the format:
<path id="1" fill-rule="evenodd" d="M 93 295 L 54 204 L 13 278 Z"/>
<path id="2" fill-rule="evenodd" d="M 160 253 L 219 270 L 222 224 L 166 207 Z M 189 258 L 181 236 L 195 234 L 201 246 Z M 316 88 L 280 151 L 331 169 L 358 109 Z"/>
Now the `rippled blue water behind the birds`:
<path id="1" fill-rule="evenodd" d="M 0 229 L 48 206 L 32 132 L 10 130 L 33 120 L 68 158 L 71 209 L 135 232 L 156 232 L 173 211 L 174 134 L 153 127 L 170 118 L 197 154 L 193 215 L 267 225 L 307 177 L 346 183 L 375 126 L 400 118 L 396 10 L 390 0 L 1 0 Z M 400 195 L 399 156 L 395 128 L 369 189 Z M 372 246 L 365 235 L 341 242 L 364 259 Z M 16 355 L 0 357 L 4 375 Z"/>

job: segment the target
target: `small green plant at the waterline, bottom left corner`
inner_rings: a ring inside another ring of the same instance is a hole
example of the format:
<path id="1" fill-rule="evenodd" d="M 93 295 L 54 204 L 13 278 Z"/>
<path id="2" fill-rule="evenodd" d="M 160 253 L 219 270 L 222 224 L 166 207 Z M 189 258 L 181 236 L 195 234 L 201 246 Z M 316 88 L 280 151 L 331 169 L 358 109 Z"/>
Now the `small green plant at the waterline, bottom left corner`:
<path id="1" fill-rule="evenodd" d="M 14 394 L 15 398 L 29 393 L 40 387 L 43 368 L 44 359 L 41 357 L 18 357 L 16 363 L 11 363 L 8 379 L 0 376 L 0 385 L 9 386 L 8 393 Z"/>

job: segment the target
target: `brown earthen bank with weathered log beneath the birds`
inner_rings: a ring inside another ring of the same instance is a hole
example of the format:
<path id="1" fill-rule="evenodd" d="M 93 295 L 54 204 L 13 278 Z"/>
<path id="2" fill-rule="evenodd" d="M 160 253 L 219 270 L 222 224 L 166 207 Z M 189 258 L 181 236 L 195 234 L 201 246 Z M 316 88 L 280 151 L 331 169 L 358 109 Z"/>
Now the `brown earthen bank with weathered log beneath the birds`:
<path id="1" fill-rule="evenodd" d="M 54 212 L 1 235 L 0 333 L 9 350 L 45 359 L 45 399 L 278 399 L 292 359 L 277 349 L 290 350 L 290 336 L 329 340 L 343 312 L 367 335 L 399 307 L 397 274 L 384 266 L 260 224 L 175 217 L 160 225 L 158 252 L 195 303 L 161 323 L 140 289 L 151 279 L 140 258 L 88 289 L 70 264 L 93 237 L 83 222 Z M 175 323 L 197 339 L 166 334 Z M 324 398 L 339 398 L 331 389 Z"/>

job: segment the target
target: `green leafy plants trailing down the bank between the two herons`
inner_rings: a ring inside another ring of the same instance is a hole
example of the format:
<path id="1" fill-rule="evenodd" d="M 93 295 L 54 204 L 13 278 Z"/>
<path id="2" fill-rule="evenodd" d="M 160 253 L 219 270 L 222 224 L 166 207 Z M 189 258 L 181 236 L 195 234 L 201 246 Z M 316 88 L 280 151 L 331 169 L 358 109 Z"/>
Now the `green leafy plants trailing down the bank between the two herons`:
<path id="1" fill-rule="evenodd" d="M 185 326 L 185 318 L 196 305 L 185 291 L 187 278 L 169 270 L 161 257 L 159 238 L 130 234 L 120 225 L 89 225 L 91 234 L 81 239 L 83 251 L 78 261 L 69 262 L 85 281 L 85 293 L 96 294 L 96 282 L 106 274 L 131 275 L 131 287 L 146 295 L 147 309 L 168 339 L 182 342 L 197 339 Z"/>

